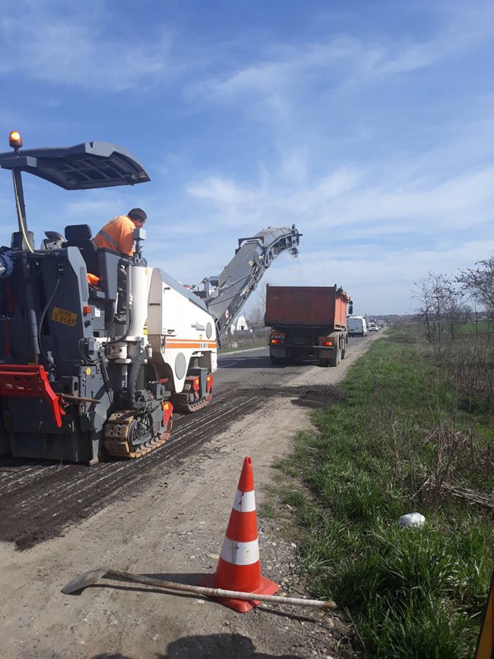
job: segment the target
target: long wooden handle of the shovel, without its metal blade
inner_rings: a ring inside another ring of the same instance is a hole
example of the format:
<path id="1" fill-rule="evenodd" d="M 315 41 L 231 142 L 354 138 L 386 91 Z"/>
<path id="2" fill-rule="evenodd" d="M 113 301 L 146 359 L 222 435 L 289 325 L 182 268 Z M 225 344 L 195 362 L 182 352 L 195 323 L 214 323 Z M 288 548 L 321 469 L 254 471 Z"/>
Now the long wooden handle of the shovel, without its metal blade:
<path id="1" fill-rule="evenodd" d="M 223 590 L 222 588 L 206 588 L 205 586 L 190 586 L 187 583 L 176 583 L 175 581 L 163 581 L 152 579 L 144 575 L 134 575 L 131 572 L 120 572 L 119 570 L 108 570 L 104 575 L 108 579 L 119 579 L 121 581 L 132 581 L 143 583 L 145 586 L 157 586 L 168 590 L 180 590 L 182 592 L 193 592 L 207 597 L 231 597 L 246 601 L 273 602 L 277 604 L 292 604 L 296 606 L 310 606 L 320 609 L 336 609 L 333 601 L 322 601 L 319 599 L 301 599 L 299 597 L 282 597 L 280 595 L 263 595 L 257 592 L 241 592 L 239 590 Z"/>

